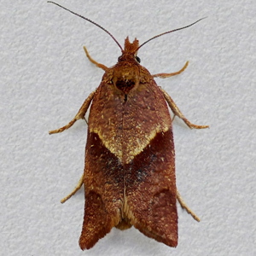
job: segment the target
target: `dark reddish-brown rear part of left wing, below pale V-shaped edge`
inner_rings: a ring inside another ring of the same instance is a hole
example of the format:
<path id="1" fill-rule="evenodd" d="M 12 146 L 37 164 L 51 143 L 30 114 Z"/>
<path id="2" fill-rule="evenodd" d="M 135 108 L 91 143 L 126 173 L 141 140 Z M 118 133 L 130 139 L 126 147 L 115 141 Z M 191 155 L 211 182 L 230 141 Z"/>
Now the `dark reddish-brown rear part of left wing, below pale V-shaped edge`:
<path id="1" fill-rule="evenodd" d="M 120 222 L 124 195 L 123 167 L 96 133 L 88 134 L 84 168 L 84 224 L 79 245 L 93 247 Z"/>

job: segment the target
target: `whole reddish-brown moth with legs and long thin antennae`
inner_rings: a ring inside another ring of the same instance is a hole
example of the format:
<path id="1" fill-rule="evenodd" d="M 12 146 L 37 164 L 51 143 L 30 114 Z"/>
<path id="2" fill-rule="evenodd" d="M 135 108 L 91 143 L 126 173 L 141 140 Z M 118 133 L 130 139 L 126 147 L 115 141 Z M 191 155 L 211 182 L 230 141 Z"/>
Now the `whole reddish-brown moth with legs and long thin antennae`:
<path id="1" fill-rule="evenodd" d="M 166 33 L 169 32 L 154 38 Z M 79 239 L 82 250 L 93 247 L 113 227 L 125 230 L 131 226 L 145 236 L 176 247 L 176 201 L 193 218 L 198 221 L 199 218 L 177 192 L 172 119 L 167 104 L 174 116 L 183 119 L 189 128 L 208 126 L 191 124 L 171 96 L 154 81 L 154 78 L 182 73 L 188 62 L 176 73 L 152 75 L 140 65 L 137 57 L 137 50 L 148 41 L 139 45 L 137 39 L 131 43 L 127 37 L 123 49 L 115 38 L 113 40 L 122 52 L 113 67 L 94 61 L 84 47 L 89 60 L 104 70 L 102 82 L 85 99 L 72 121 L 49 131 L 52 134 L 67 130 L 77 120 L 84 119 L 90 107 L 84 173 L 77 187 L 61 202 L 67 201 L 84 184 L 84 224 Z"/>

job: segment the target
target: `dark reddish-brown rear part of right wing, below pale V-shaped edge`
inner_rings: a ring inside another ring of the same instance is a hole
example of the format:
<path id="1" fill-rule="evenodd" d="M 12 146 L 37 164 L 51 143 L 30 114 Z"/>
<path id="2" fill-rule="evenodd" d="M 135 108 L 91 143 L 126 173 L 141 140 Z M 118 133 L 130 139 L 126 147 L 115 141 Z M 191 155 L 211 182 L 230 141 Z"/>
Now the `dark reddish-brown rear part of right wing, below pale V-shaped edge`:
<path id="1" fill-rule="evenodd" d="M 172 131 L 158 133 L 148 147 L 125 166 L 125 215 L 144 235 L 176 247 L 173 148 Z"/>

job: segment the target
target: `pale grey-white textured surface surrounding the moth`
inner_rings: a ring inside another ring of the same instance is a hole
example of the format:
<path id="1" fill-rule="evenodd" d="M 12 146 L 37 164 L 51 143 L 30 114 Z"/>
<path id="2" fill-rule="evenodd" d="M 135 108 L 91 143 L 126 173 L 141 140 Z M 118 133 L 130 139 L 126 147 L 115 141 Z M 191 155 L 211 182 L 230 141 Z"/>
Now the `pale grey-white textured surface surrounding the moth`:
<path id="1" fill-rule="evenodd" d="M 1 2 L 1 255 L 256 255 L 256 2 L 254 0 L 59 1 L 106 27 L 151 73 L 187 70 L 156 79 L 184 115 L 210 129 L 174 121 L 177 188 L 197 215 L 178 206 L 177 248 L 135 229 L 113 229 L 82 252 L 83 190 L 66 204 L 83 172 L 86 125 L 66 125 L 102 79 L 84 55 L 113 66 L 120 50 L 108 34 L 46 1 Z"/>

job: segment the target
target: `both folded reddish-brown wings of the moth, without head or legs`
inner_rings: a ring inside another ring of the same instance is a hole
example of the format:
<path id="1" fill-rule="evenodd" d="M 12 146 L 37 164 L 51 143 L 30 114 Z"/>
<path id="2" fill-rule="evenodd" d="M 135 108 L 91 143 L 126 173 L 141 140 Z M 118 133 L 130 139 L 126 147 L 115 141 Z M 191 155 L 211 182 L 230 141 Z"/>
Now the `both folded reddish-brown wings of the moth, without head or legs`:
<path id="1" fill-rule="evenodd" d="M 170 114 L 154 80 L 138 88 L 125 102 L 124 96 L 102 79 L 94 98 L 97 105 L 93 102 L 90 108 L 84 224 L 79 240 L 82 249 L 93 247 L 114 226 L 124 230 L 131 225 L 148 237 L 177 246 Z M 112 136 L 107 145 L 102 140 L 106 133 Z M 137 138 L 147 140 L 144 148 L 132 142 Z"/>

